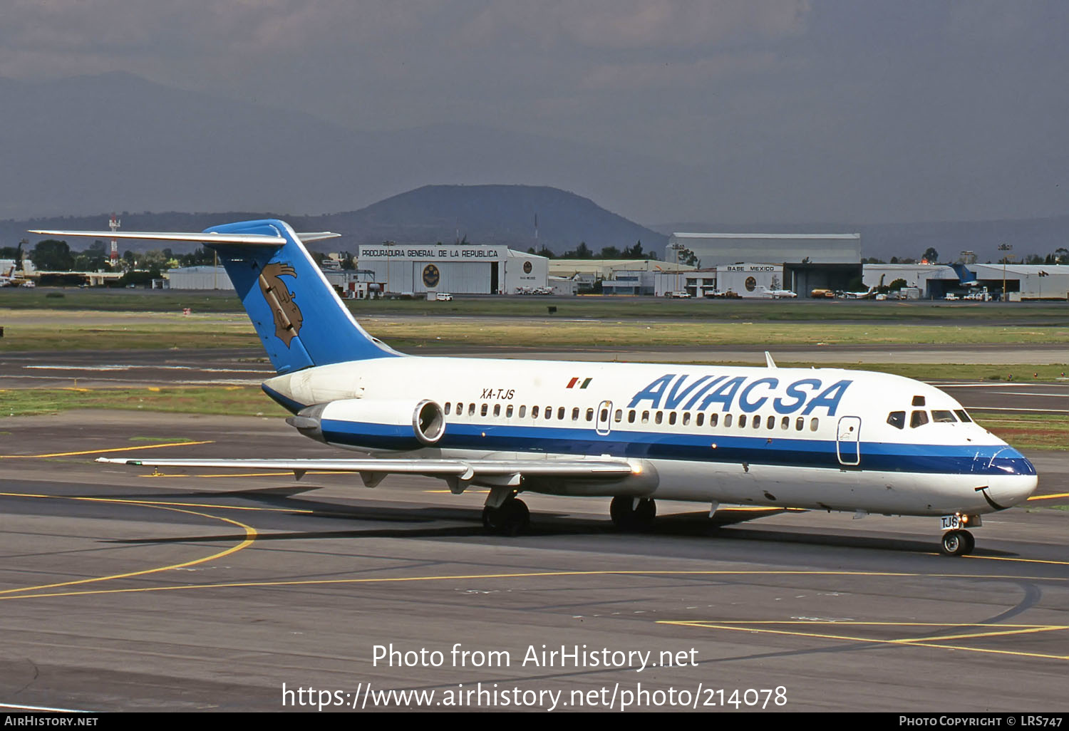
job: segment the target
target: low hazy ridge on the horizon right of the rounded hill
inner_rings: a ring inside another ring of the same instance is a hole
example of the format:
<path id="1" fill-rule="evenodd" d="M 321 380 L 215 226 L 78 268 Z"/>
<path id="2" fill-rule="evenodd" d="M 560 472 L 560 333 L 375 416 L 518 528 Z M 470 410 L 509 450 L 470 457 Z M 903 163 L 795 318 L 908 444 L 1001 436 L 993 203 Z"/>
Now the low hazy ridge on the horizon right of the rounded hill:
<path id="1" fill-rule="evenodd" d="M 889 261 L 892 256 L 920 259 L 933 247 L 940 261 L 954 262 L 962 251 L 973 251 L 979 262 L 1002 258 L 998 245 L 1010 244 L 1016 261 L 1028 254 L 1045 256 L 1059 247 L 1069 248 L 1069 216 L 994 221 L 940 221 L 929 223 L 657 223 L 651 229 L 676 232 L 715 233 L 861 233 L 862 256 Z"/>

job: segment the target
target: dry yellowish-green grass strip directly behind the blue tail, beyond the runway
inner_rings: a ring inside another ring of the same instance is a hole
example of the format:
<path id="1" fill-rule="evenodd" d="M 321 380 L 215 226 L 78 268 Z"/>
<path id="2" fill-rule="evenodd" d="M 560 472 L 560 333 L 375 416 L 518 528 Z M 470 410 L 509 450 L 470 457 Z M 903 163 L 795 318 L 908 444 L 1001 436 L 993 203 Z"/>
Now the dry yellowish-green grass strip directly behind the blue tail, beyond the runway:
<path id="1" fill-rule="evenodd" d="M 405 349 L 459 346 L 532 348 L 701 347 L 713 345 L 1069 344 L 1058 325 L 899 323 L 692 323 L 490 317 L 366 317 L 365 328 Z M 170 347 L 258 347 L 244 313 L 0 310 L 0 353 Z M 1069 352 L 1069 348 L 1067 348 Z"/>

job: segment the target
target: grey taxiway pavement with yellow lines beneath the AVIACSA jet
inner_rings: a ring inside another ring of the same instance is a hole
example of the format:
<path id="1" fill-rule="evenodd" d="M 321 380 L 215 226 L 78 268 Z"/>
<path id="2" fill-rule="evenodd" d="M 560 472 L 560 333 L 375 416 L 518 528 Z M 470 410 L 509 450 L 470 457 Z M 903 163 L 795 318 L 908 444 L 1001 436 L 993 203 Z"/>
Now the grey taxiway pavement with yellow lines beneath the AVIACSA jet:
<path id="1" fill-rule="evenodd" d="M 1066 707 L 1065 453 L 1029 454 L 1040 499 L 946 558 L 934 518 L 661 502 L 635 535 L 605 499 L 536 495 L 509 539 L 433 480 L 92 462 L 337 455 L 281 419 L 72 411 L 0 439 L 9 707 Z"/>

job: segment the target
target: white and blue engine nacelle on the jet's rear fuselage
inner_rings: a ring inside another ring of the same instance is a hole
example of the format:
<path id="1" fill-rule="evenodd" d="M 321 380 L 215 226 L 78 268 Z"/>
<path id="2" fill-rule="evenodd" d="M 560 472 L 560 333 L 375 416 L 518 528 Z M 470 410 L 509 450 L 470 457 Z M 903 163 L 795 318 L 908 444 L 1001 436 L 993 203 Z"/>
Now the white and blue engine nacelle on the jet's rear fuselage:
<path id="1" fill-rule="evenodd" d="M 369 450 L 433 447 L 446 433 L 446 414 L 430 399 L 343 399 L 301 409 L 286 422 L 317 441 Z"/>

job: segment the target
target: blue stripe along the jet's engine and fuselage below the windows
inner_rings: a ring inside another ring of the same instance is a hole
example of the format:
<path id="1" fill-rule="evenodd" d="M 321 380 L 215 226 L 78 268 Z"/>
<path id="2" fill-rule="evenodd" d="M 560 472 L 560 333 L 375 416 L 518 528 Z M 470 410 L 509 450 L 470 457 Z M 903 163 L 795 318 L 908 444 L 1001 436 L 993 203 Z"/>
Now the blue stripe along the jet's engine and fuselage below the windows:
<path id="1" fill-rule="evenodd" d="M 327 441 L 348 447 L 413 450 L 424 446 L 416 439 L 410 424 L 325 419 L 322 427 Z M 781 467 L 843 467 L 834 440 L 777 436 L 622 431 L 602 436 L 592 429 L 453 422 L 446 426 L 445 435 L 435 447 L 483 452 L 607 454 L 616 457 L 706 463 L 746 462 Z M 852 447 L 852 444 L 843 445 L 843 449 Z M 858 468 L 866 470 L 977 476 L 1036 473 L 1032 463 L 1017 450 L 1001 445 L 966 447 L 863 441 L 859 452 Z"/>

